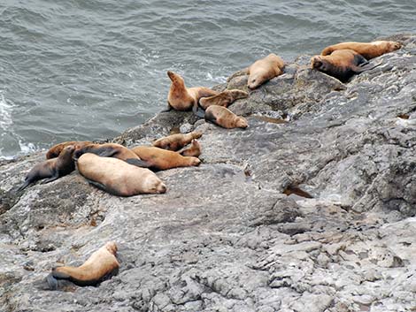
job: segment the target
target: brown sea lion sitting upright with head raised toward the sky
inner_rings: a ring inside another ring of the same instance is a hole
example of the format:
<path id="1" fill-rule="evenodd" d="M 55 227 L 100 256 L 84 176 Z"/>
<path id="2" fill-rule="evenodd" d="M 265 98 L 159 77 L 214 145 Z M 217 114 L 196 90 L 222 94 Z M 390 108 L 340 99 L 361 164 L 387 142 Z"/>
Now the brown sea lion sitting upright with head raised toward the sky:
<path id="1" fill-rule="evenodd" d="M 181 75 L 168 71 L 167 75 L 172 80 L 169 94 L 167 95 L 167 103 L 174 110 L 190 110 L 199 102 L 201 97 L 218 95 L 219 92 L 210 88 L 194 87 L 186 88 L 185 80 Z"/>

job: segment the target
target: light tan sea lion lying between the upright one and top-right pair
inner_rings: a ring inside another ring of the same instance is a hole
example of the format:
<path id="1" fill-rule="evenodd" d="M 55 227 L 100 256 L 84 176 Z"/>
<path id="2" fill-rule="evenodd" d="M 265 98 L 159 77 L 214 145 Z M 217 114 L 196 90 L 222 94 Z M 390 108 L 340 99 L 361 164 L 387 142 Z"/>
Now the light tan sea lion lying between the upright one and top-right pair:
<path id="1" fill-rule="evenodd" d="M 249 81 L 247 86 L 253 90 L 274 77 L 283 73 L 284 61 L 281 57 L 271 53 L 250 65 L 248 69 Z"/>

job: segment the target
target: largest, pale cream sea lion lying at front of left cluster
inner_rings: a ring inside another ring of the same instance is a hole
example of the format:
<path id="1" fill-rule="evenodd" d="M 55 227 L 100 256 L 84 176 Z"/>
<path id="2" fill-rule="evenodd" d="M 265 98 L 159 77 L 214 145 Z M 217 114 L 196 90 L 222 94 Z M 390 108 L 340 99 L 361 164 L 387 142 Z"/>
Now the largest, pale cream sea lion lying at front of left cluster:
<path id="1" fill-rule="evenodd" d="M 134 196 L 166 192 L 165 183 L 155 173 L 117 158 L 86 153 L 78 158 L 77 167 L 89 183 L 113 195 Z"/>

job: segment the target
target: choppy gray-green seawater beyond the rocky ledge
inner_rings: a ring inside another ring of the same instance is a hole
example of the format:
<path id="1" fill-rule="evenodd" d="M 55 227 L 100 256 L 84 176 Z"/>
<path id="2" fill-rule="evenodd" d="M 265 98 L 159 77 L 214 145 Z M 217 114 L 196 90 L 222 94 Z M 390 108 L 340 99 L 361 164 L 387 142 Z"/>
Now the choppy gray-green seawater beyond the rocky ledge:
<path id="1" fill-rule="evenodd" d="M 212 87 L 270 52 L 415 31 L 416 0 L 2 0 L 0 157 L 142 124 L 167 70 Z"/>

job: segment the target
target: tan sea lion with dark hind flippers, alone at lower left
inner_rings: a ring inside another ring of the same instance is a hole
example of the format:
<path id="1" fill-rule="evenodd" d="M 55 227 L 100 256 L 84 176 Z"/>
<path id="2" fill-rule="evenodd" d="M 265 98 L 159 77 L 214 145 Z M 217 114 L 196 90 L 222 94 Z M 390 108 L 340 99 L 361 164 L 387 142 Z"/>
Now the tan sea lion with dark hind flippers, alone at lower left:
<path id="1" fill-rule="evenodd" d="M 51 290 L 58 288 L 57 279 L 68 279 L 75 285 L 87 286 L 101 283 L 107 276 L 119 269 L 116 258 L 117 245 L 110 241 L 96 250 L 89 259 L 79 267 L 58 267 L 46 278 Z"/>

